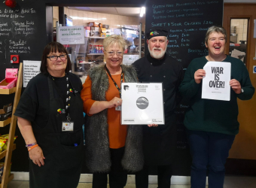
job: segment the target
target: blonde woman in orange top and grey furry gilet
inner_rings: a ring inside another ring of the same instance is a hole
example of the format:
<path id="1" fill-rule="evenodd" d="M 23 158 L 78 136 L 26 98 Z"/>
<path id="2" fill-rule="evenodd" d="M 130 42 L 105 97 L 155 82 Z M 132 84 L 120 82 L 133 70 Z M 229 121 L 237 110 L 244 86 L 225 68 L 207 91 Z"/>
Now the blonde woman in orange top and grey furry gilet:
<path id="1" fill-rule="evenodd" d="M 121 65 L 126 42 L 119 35 L 104 39 L 105 65 L 93 67 L 81 97 L 84 112 L 87 167 L 93 172 L 93 188 L 126 185 L 127 171 L 143 166 L 142 127 L 120 124 L 120 84 L 137 82 L 136 71 Z"/>

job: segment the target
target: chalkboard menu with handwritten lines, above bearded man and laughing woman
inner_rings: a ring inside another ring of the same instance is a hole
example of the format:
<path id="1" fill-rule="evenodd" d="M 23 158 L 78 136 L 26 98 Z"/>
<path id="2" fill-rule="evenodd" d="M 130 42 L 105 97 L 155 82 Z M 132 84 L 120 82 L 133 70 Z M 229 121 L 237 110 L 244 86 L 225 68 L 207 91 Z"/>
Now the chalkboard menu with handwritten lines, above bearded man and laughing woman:
<path id="1" fill-rule="evenodd" d="M 154 27 L 166 28 L 166 52 L 187 68 L 192 59 L 208 54 L 206 31 L 210 26 L 222 26 L 222 15 L 223 1 L 151 0 L 146 8 L 146 32 Z"/>

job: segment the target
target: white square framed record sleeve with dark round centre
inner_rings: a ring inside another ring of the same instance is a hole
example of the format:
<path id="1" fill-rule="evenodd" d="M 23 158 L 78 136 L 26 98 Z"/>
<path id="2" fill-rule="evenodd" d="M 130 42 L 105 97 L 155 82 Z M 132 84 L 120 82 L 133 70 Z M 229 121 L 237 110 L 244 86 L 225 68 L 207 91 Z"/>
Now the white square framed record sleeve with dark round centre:
<path id="1" fill-rule="evenodd" d="M 164 124 L 162 83 L 122 83 L 122 125 Z"/>

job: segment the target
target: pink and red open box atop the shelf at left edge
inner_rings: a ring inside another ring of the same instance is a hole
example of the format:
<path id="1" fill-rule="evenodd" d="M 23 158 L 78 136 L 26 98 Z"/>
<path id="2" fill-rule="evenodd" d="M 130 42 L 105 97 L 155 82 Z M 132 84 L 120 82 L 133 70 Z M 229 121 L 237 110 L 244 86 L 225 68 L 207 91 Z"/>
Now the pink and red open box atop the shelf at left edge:
<path id="1" fill-rule="evenodd" d="M 6 68 L 5 79 L 0 82 L 0 89 L 11 89 L 17 84 L 18 68 Z"/>

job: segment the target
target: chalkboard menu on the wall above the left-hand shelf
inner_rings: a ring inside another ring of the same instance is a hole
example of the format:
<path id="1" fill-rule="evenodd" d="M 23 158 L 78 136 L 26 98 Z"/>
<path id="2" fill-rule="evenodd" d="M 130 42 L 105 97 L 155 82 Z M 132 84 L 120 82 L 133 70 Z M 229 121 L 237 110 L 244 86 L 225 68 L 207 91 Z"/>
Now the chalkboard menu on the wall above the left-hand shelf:
<path id="1" fill-rule="evenodd" d="M 40 22 L 45 8 L 38 8 L 36 1 L 18 2 L 15 8 L 0 5 L 0 79 L 5 78 L 5 68 L 18 68 L 11 63 L 11 55 L 23 60 L 41 60 L 46 44 L 45 17 Z"/>

